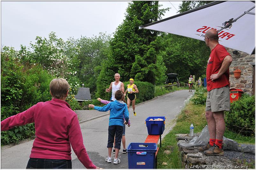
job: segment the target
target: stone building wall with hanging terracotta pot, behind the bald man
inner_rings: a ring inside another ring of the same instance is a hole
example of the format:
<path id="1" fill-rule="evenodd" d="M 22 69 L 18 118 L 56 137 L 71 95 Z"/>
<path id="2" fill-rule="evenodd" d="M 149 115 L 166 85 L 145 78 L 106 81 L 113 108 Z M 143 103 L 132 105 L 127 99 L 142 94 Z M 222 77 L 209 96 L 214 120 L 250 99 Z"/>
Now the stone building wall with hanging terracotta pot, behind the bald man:
<path id="1" fill-rule="evenodd" d="M 230 71 L 230 88 L 242 89 L 245 93 L 253 95 L 253 66 L 255 65 L 255 54 L 250 55 L 242 51 L 238 51 L 238 54 L 233 54 L 233 49 L 227 48 L 227 51 L 231 54 L 233 59 L 229 71 Z M 241 70 L 240 78 L 234 78 L 235 70 Z"/>

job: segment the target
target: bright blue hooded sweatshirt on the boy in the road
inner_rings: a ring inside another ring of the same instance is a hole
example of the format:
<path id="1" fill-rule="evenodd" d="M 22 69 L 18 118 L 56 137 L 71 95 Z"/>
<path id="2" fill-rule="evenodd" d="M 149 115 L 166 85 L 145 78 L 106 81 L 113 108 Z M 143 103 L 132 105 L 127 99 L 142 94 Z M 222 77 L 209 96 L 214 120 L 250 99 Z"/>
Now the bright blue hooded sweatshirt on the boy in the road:
<path id="1" fill-rule="evenodd" d="M 103 107 L 94 106 L 94 109 L 100 112 L 107 112 L 110 110 L 109 126 L 119 125 L 123 126 L 124 119 L 129 121 L 129 112 L 126 103 L 123 101 L 115 100 Z"/>

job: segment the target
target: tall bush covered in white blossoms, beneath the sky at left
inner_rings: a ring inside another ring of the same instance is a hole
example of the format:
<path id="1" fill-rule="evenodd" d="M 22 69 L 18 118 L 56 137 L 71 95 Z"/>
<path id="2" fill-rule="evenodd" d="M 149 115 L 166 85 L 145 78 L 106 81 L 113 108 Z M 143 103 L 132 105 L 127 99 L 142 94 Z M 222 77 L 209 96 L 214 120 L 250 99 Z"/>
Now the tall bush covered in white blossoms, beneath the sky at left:
<path id="1" fill-rule="evenodd" d="M 30 43 L 29 48 L 21 45 L 19 51 L 15 51 L 13 47 L 4 46 L 1 53 L 24 65 L 26 69 L 41 65 L 53 77 L 66 79 L 70 84 L 68 95 L 72 95 L 73 99 L 77 88 L 82 84 L 77 78 L 76 70 L 79 65 L 78 55 L 82 47 L 74 45 L 71 41 L 64 42 L 63 39 L 57 38 L 55 32 L 51 32 L 48 39 L 37 36 L 35 40 L 34 44 Z M 70 102 L 68 99 L 67 102 Z"/>

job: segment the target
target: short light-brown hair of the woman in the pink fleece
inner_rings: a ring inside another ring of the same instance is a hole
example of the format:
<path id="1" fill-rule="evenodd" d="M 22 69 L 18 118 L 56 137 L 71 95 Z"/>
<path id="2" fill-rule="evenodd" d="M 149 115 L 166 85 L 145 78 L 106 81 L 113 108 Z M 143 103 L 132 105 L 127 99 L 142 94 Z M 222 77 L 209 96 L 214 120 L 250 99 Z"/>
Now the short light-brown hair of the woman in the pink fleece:
<path id="1" fill-rule="evenodd" d="M 50 83 L 50 91 L 55 99 L 66 97 L 69 88 L 68 81 L 64 78 L 54 78 Z"/>

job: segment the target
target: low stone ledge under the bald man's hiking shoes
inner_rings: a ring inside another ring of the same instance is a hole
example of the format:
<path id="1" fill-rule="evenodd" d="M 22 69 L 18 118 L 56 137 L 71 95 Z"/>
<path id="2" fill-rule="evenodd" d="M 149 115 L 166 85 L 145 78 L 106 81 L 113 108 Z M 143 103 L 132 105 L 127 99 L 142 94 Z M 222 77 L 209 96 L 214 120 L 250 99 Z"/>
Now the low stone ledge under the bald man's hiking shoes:
<path id="1" fill-rule="evenodd" d="M 194 134 L 193 138 L 199 137 L 200 134 Z M 189 143 L 192 139 L 188 134 L 176 134 L 176 136 L 178 143 Z M 179 147 L 182 166 L 185 169 L 251 169 L 255 167 L 253 153 L 232 151 L 224 147 L 224 156 L 209 156 L 198 152 L 199 147 L 201 146 Z"/>

